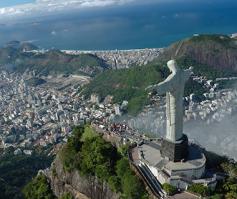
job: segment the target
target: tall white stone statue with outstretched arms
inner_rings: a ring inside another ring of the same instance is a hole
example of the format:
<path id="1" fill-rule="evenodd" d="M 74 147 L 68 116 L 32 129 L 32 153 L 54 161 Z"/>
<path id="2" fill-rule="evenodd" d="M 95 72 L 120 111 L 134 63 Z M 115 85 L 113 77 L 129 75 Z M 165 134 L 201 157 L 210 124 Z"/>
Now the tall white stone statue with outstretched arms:
<path id="1" fill-rule="evenodd" d="M 158 95 L 166 93 L 166 139 L 176 142 L 183 136 L 184 86 L 192 74 L 192 68 L 182 70 L 174 60 L 170 60 L 167 66 L 171 72 L 167 79 L 149 86 L 147 90 L 155 90 Z"/>

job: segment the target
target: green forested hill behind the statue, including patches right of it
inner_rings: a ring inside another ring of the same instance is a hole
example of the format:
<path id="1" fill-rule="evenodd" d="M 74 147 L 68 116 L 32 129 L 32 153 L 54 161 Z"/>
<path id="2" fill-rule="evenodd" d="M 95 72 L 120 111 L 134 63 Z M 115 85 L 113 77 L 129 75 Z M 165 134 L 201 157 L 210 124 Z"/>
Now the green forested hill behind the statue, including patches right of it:
<path id="1" fill-rule="evenodd" d="M 108 70 L 96 76 L 90 84 L 85 87 L 84 94 L 89 97 L 92 93 L 97 93 L 105 98 L 107 95 L 114 96 L 114 102 L 129 102 L 128 112 L 138 113 L 144 105 L 149 102 L 148 93 L 145 88 L 152 84 L 161 82 L 168 76 L 169 71 L 166 61 L 154 61 L 146 66 L 132 67 L 130 69 Z M 216 76 L 222 73 L 219 70 L 209 71 L 205 66 L 195 63 L 190 59 L 178 59 L 180 66 L 194 67 L 194 72 L 208 76 Z M 201 96 L 206 89 L 197 82 L 189 80 L 186 84 L 185 95 L 195 93 Z"/>

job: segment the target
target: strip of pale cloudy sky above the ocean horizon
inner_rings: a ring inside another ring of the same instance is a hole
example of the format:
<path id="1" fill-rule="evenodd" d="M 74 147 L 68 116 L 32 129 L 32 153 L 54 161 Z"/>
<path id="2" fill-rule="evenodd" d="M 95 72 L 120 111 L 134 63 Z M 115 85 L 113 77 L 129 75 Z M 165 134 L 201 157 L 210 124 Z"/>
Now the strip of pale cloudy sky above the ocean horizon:
<path id="1" fill-rule="evenodd" d="M 186 0 L 0 0 L 0 21 L 20 20 L 22 17 L 38 17 L 58 12 L 87 8 L 121 5 L 138 5 Z M 193 0 L 198 1 L 198 0 Z M 199 0 L 204 1 L 204 0 Z"/>

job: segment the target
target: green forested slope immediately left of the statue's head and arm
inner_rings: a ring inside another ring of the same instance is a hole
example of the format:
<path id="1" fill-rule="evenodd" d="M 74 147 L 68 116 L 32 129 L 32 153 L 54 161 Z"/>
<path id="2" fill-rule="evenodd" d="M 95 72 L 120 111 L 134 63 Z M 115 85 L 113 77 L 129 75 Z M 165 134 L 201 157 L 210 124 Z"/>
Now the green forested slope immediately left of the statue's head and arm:
<path id="1" fill-rule="evenodd" d="M 148 100 L 145 88 L 160 82 L 167 74 L 168 70 L 162 64 L 108 70 L 96 76 L 86 86 L 84 94 L 98 93 L 102 98 L 113 95 L 114 102 L 128 100 L 129 112 L 137 113 Z"/>

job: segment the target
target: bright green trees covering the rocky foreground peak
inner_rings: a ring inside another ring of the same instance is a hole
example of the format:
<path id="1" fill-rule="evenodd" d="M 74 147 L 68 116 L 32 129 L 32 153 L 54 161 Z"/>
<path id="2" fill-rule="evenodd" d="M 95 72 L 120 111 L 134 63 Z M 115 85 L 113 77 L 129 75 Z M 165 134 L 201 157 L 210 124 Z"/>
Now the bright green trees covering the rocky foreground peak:
<path id="1" fill-rule="evenodd" d="M 76 170 L 88 179 L 96 176 L 96 183 L 106 183 L 123 199 L 148 199 L 144 184 L 130 168 L 127 148 L 121 148 L 119 152 L 90 126 L 75 127 L 73 136 L 58 155 L 66 172 Z M 63 181 L 57 176 L 56 167 L 55 164 L 51 167 L 53 175 Z M 54 198 L 44 176 L 34 178 L 25 187 L 24 195 L 26 199 Z"/>

